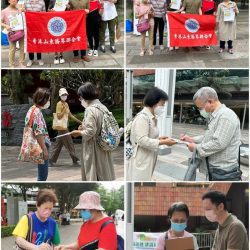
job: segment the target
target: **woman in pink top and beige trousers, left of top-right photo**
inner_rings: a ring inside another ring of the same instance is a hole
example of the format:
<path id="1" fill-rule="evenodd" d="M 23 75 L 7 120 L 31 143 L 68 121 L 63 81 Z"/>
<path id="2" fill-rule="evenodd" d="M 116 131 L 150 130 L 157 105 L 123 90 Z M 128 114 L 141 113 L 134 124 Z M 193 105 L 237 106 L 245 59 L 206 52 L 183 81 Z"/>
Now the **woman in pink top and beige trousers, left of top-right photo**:
<path id="1" fill-rule="evenodd" d="M 141 0 L 141 2 L 135 7 L 136 17 L 139 18 L 139 22 L 147 20 L 150 24 L 149 34 L 149 55 L 153 55 L 153 32 L 154 32 L 154 8 L 149 0 Z M 141 33 L 141 53 L 140 56 L 145 55 L 145 38 L 146 33 Z"/>

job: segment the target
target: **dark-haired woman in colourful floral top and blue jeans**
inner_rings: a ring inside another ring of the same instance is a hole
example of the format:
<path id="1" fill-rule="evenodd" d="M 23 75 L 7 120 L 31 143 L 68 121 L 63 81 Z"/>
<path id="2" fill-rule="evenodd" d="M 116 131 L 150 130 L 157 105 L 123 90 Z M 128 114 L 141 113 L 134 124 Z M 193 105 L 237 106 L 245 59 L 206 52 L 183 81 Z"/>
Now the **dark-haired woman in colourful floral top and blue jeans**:
<path id="1" fill-rule="evenodd" d="M 43 151 L 43 164 L 38 164 L 38 181 L 46 181 L 48 177 L 48 149 L 51 145 L 47 126 L 42 114 L 43 109 L 50 107 L 50 92 L 46 88 L 38 88 L 33 95 L 34 105 L 30 107 L 25 117 L 25 126 L 32 124 L 34 135 Z M 21 156 L 21 153 L 19 157 Z"/>

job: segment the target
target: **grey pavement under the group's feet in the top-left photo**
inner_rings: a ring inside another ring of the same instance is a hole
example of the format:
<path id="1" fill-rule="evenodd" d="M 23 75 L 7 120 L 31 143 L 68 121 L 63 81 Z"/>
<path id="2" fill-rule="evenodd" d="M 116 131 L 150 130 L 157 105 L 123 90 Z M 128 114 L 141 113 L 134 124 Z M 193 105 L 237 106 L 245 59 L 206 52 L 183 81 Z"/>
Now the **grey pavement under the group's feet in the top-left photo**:
<path id="1" fill-rule="evenodd" d="M 73 52 L 65 52 L 63 53 L 63 57 L 65 59 L 64 64 L 54 64 L 54 53 L 43 53 L 42 60 L 44 61 L 43 66 L 39 66 L 38 62 L 36 61 L 31 67 L 29 68 L 123 68 L 124 67 L 124 29 L 121 29 L 121 38 L 116 43 L 116 53 L 112 53 L 110 51 L 109 42 L 106 41 L 106 53 L 102 53 L 99 51 L 99 56 L 89 57 L 91 59 L 90 62 L 85 62 L 80 60 L 77 63 L 73 62 Z M 88 51 L 87 51 L 88 53 Z M 2 68 L 9 67 L 9 46 L 2 46 Z M 19 66 L 19 50 L 16 51 L 16 67 Z M 79 57 L 80 58 L 80 57 Z M 28 62 L 28 55 L 25 56 L 25 65 Z M 35 55 L 36 60 L 36 55 Z"/>

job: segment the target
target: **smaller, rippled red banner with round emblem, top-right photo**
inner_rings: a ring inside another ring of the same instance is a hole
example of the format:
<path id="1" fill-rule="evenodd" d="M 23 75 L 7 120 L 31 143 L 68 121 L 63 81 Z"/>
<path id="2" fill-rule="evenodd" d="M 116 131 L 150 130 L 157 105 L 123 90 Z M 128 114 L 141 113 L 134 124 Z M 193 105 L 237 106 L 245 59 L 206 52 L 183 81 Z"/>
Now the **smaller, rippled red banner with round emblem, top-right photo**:
<path id="1" fill-rule="evenodd" d="M 168 46 L 196 47 L 217 45 L 214 15 L 168 13 Z"/>

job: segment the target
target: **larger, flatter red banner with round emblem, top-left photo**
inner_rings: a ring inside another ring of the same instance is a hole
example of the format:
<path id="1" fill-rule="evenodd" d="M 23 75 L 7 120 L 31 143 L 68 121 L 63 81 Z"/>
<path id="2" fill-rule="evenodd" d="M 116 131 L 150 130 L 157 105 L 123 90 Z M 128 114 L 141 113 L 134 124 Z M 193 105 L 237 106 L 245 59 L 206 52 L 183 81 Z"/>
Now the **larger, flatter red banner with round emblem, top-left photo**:
<path id="1" fill-rule="evenodd" d="M 87 49 L 86 12 L 25 12 L 27 52 Z"/>

